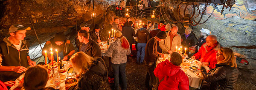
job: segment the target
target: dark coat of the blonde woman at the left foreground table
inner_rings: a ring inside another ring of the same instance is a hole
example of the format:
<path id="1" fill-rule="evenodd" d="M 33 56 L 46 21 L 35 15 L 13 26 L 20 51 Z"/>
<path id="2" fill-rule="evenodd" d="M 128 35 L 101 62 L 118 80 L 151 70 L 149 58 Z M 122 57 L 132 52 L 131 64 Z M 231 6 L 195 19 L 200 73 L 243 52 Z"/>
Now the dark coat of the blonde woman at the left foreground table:
<path id="1" fill-rule="evenodd" d="M 107 68 L 105 65 L 95 60 L 90 66 L 89 71 L 81 74 L 78 82 L 78 90 L 105 90 L 107 85 Z"/>

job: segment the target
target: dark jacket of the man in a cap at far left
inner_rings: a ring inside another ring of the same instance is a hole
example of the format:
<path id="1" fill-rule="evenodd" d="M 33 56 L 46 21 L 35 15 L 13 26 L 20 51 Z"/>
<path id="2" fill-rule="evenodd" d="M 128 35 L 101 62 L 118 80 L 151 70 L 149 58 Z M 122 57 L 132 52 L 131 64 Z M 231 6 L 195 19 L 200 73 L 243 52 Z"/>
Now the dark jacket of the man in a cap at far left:
<path id="1" fill-rule="evenodd" d="M 21 41 L 21 48 L 20 51 L 18 51 L 7 37 L 4 38 L 3 41 L 0 42 L 0 54 L 3 55 L 3 66 L 29 66 L 27 58 L 27 56 L 29 56 L 29 44 L 26 40 Z M 15 80 L 20 75 L 21 74 L 14 71 L 1 71 L 0 80 L 3 82 Z"/>

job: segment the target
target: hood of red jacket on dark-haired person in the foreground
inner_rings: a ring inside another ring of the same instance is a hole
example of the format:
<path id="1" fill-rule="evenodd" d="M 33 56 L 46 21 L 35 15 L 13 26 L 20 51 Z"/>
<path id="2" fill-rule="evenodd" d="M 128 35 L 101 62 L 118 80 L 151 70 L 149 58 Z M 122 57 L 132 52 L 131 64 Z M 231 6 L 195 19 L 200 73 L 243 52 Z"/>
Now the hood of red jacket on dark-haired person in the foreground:
<path id="1" fill-rule="evenodd" d="M 180 71 L 180 66 L 173 65 L 169 60 L 162 62 L 163 75 L 173 76 Z"/>

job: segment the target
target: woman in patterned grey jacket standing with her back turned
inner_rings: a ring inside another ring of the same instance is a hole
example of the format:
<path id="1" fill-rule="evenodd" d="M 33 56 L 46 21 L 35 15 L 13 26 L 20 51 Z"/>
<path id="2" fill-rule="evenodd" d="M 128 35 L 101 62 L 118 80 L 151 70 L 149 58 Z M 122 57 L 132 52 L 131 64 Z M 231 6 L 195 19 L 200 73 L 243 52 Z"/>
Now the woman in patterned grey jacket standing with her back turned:
<path id="1" fill-rule="evenodd" d="M 106 56 L 111 57 L 111 65 L 114 74 L 114 90 L 119 90 L 119 79 L 122 79 L 122 90 L 127 89 L 126 75 L 125 75 L 125 67 L 127 64 L 127 57 L 131 53 L 129 49 L 129 42 L 122 35 L 120 31 L 116 31 L 114 33 L 116 41 L 114 41 L 108 48 L 106 52 Z M 119 77 L 119 74 L 121 74 Z"/>

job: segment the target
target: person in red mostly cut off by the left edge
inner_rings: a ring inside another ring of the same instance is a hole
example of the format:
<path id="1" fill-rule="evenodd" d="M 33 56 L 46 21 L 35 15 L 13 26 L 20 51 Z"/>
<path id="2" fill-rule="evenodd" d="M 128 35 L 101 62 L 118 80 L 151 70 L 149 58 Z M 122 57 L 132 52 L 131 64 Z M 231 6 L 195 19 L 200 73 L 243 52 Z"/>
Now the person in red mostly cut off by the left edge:
<path id="1" fill-rule="evenodd" d="M 2 55 L 0 55 L 0 68 L 2 66 Z M 7 86 L 12 87 L 15 84 L 15 81 L 7 81 L 2 82 L 0 81 L 0 90 L 8 90 Z"/>

